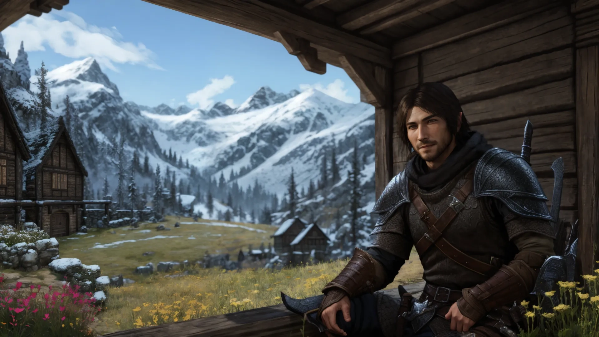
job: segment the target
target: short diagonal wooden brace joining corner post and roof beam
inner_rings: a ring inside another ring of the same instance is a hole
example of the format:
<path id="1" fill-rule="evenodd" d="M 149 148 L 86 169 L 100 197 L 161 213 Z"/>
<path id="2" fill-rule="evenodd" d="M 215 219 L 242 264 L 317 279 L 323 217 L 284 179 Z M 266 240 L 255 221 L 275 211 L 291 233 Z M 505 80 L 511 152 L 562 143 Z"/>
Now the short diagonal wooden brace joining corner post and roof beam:
<path id="1" fill-rule="evenodd" d="M 375 107 L 385 105 L 387 100 L 385 88 L 374 77 L 372 64 L 350 55 L 341 56 L 339 61 L 343 65 L 343 70 L 356 83 L 356 86 L 364 94 L 368 103 Z"/>

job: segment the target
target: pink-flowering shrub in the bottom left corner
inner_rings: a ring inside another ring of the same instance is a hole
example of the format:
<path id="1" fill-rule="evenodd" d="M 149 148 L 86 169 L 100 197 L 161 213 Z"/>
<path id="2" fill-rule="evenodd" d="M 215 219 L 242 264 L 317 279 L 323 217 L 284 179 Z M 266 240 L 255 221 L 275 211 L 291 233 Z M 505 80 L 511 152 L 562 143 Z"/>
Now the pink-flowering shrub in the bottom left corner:
<path id="1" fill-rule="evenodd" d="M 17 282 L 15 288 L 0 290 L 0 336 L 93 335 L 89 324 L 100 308 L 93 305 L 92 293 L 81 294 L 78 287 L 65 284 L 60 291 L 50 286 L 42 295 L 40 285 L 31 285 L 29 291 L 19 291 L 21 286 Z"/>

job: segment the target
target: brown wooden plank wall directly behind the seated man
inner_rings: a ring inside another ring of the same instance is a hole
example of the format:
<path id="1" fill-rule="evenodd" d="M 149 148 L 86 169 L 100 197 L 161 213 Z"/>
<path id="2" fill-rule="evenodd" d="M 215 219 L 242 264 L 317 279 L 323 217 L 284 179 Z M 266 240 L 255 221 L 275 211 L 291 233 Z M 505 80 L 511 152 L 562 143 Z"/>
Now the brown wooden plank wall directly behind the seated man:
<path id="1" fill-rule="evenodd" d="M 518 14 L 519 7 L 513 11 L 506 11 L 506 19 Z M 471 22 L 486 20 L 482 14 L 468 15 Z M 443 31 L 451 25 L 449 22 L 431 30 Z M 577 176 L 573 41 L 570 8 L 554 1 L 549 8 L 515 22 L 398 58 L 394 66 L 394 111 L 409 88 L 422 82 L 444 83 L 460 100 L 473 130 L 483 133 L 491 145 L 516 154 L 521 151 L 524 125 L 530 119 L 534 127 L 531 166 L 549 198 L 548 206 L 553 188 L 550 166 L 553 160 L 563 157 L 560 216 L 574 221 Z M 393 140 L 397 174 L 406 163 L 407 151 L 395 121 Z"/>

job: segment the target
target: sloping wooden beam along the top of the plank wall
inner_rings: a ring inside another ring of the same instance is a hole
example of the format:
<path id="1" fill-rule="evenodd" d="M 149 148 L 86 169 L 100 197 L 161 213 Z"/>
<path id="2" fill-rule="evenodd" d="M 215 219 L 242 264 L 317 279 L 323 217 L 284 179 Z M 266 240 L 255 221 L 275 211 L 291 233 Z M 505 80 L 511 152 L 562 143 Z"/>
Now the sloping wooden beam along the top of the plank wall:
<path id="1" fill-rule="evenodd" d="M 547 0 L 503 1 L 397 41 L 393 46 L 392 57 L 401 58 L 491 31 L 556 5 L 559 3 L 553 1 L 547 4 Z"/>

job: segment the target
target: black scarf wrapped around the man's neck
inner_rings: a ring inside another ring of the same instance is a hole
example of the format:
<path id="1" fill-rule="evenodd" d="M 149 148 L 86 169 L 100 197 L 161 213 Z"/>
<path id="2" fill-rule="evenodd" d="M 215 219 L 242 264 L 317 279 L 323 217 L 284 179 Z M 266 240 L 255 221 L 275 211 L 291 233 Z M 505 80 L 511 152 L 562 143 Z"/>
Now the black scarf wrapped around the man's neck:
<path id="1" fill-rule="evenodd" d="M 445 185 L 474 161 L 478 160 L 492 146 L 477 131 L 470 131 L 465 142 L 458 143 L 452 153 L 438 169 L 430 170 L 426 162 L 416 154 L 406 164 L 406 174 L 420 188 L 432 191 Z"/>

